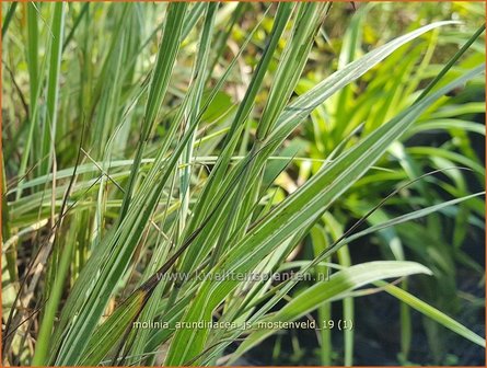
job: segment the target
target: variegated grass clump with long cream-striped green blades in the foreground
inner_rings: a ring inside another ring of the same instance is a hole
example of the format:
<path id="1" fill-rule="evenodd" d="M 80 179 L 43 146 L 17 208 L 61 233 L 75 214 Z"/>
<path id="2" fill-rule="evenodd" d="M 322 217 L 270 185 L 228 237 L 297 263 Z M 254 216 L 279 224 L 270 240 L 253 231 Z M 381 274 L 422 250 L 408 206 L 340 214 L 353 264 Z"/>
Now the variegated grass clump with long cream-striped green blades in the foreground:
<path id="1" fill-rule="evenodd" d="M 421 128 L 415 123 L 448 101 L 447 93 L 482 83 L 479 58 L 459 60 L 478 44 L 485 27 L 463 35 L 463 47 L 440 66 L 436 78 L 425 77 L 426 69 L 419 68 L 415 84 L 408 85 L 408 103 L 396 111 L 384 107 L 378 113 L 383 123 L 362 124 L 350 116 L 337 122 L 334 140 L 325 143 L 334 141 L 333 149 L 313 161 L 318 163 L 313 175 L 282 195 L 279 183 L 287 169 L 312 162 L 295 151 L 282 154 L 281 148 L 294 141 L 293 131 L 310 119 L 316 124 L 331 102 L 346 116 L 360 77 L 429 34 L 438 37 L 442 28 L 462 25 L 427 24 L 359 55 L 358 31 L 369 5 L 361 8 L 347 32 L 349 47 L 344 46 L 338 70 L 316 83 L 309 79 L 303 87 L 315 43 L 327 38 L 323 24 L 334 11 L 332 4 L 263 4 L 248 34 L 233 39 L 252 7 L 4 5 L 5 363 L 177 366 L 214 365 L 222 357 L 231 363 L 275 331 L 135 330 L 132 322 L 164 321 L 174 326 L 218 319 L 256 325 L 294 321 L 315 310 L 326 317 L 329 303 L 339 300 L 352 318 L 355 290 L 368 284 L 380 286 L 403 306 L 404 359 L 411 338 L 410 308 L 485 346 L 483 337 L 409 294 L 405 281 L 401 287 L 382 281 L 433 275 L 434 267 L 401 255 L 351 265 L 348 254 L 352 240 L 436 216 L 451 206 L 461 205 L 482 217 L 484 192 L 463 191 L 451 200 L 434 198 L 422 208 L 404 208 L 398 217 L 370 222 L 386 202 L 378 197 L 348 230 L 338 226 L 333 211 L 360 180 L 391 172 L 380 165 L 384 154 L 391 147 L 397 150 L 410 128 Z M 107 30 L 111 36 L 101 36 Z M 230 57 L 228 43 L 233 47 Z M 240 80 L 245 56 L 256 47 L 260 54 L 252 72 Z M 21 84 L 18 72 L 25 78 Z M 229 95 L 230 85 L 237 85 L 237 103 Z M 453 119 L 429 124 L 478 131 L 474 124 Z M 460 180 L 468 169 L 484 177 L 471 158 L 449 158 L 426 175 L 407 165 L 397 168 L 402 183 L 395 191 L 391 186 L 386 199 L 410 187 L 421 189 L 424 181 L 439 173 L 453 172 Z M 363 223 L 369 227 L 358 231 Z M 324 228 L 332 229 L 331 241 Z M 299 265 L 288 262 L 309 235 L 314 257 Z M 340 265 L 331 264 L 333 255 L 338 255 Z M 289 266 L 302 274 L 338 271 L 301 292 L 293 291 L 295 279 L 276 286 L 162 277 L 175 272 L 274 273 Z M 276 311 L 283 300 L 288 302 Z M 321 361 L 329 364 L 329 331 L 321 334 Z M 351 365 L 353 332 L 346 332 L 345 338 L 344 363 Z M 225 355 L 234 342 L 241 342 L 239 348 Z"/>

